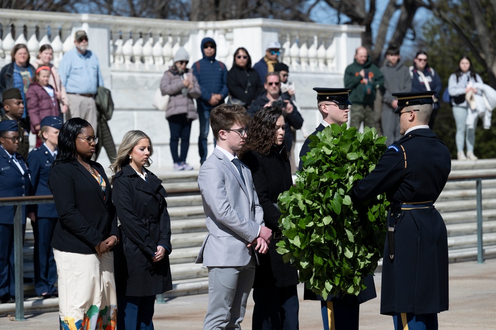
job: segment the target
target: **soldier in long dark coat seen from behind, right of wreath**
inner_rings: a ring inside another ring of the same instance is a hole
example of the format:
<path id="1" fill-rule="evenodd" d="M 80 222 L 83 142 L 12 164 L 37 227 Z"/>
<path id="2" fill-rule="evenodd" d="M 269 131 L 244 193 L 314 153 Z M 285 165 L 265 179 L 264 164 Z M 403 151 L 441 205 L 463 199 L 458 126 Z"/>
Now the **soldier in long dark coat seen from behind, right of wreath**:
<path id="1" fill-rule="evenodd" d="M 354 202 L 385 192 L 391 202 L 384 245 L 380 313 L 395 329 L 437 329 L 448 309 L 446 226 L 434 202 L 451 170 L 449 150 L 429 129 L 435 91 L 396 93 L 399 141 L 353 187 Z"/>

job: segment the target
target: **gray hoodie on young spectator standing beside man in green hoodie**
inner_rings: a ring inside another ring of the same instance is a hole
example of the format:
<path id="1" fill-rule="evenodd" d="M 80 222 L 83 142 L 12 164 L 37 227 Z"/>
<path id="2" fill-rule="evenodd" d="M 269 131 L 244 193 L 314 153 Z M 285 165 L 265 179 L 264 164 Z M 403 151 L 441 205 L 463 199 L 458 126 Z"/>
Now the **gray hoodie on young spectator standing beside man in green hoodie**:
<path id="1" fill-rule="evenodd" d="M 391 66 L 386 59 L 380 68 L 384 75 L 384 90 L 382 91 L 382 110 L 391 110 L 391 102 L 396 99 L 393 93 L 406 93 L 412 90 L 412 78 L 408 68 L 400 59 L 395 66 Z"/>

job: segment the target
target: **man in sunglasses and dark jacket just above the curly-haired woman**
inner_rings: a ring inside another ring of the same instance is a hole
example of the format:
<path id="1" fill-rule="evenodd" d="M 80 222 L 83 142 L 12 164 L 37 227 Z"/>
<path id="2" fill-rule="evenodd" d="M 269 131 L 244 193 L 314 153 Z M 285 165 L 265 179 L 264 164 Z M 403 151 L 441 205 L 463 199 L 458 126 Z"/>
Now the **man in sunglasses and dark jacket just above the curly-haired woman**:
<path id="1" fill-rule="evenodd" d="M 276 72 L 269 72 L 265 77 L 263 87 L 267 91 L 258 96 L 248 109 L 251 117 L 266 106 L 278 106 L 284 111 L 286 127 L 284 129 L 284 142 L 288 150 L 293 146 L 293 131 L 291 128 L 299 130 L 303 126 L 303 117 L 298 111 L 298 107 L 291 101 L 287 94 L 281 93 L 281 78 Z"/>

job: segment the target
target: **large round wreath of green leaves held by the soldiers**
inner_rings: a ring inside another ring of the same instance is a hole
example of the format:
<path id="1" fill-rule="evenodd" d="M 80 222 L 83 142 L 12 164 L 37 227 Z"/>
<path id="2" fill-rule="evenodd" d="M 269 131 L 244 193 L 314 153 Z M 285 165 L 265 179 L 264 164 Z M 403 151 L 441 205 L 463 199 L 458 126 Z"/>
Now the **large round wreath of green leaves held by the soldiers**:
<path id="1" fill-rule="evenodd" d="M 332 124 L 310 136 L 296 187 L 279 195 L 283 239 L 277 251 L 296 265 L 300 281 L 324 299 L 357 295 L 382 257 L 386 233 L 385 195 L 353 204 L 353 184 L 366 177 L 386 150 L 374 128 Z"/>

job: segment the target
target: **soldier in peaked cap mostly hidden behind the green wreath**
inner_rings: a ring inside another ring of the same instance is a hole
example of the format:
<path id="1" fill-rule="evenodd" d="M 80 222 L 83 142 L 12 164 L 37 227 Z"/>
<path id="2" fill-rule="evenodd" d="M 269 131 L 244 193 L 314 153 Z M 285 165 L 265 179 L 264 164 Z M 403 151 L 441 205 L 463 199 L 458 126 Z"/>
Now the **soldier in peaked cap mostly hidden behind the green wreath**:
<path id="1" fill-rule="evenodd" d="M 312 135 L 322 132 L 330 124 L 341 126 L 348 121 L 348 106 L 351 101 L 348 94 L 351 88 L 314 88 L 317 92 L 317 106 L 322 115 L 322 122 Z M 300 151 L 300 170 L 303 166 L 302 157 L 309 151 L 310 139 L 307 138 Z M 340 293 L 329 295 L 326 300 L 305 288 L 305 300 L 320 300 L 320 310 L 324 330 L 358 330 L 360 318 L 360 304 L 377 296 L 372 275 L 364 279 L 367 288 L 358 296 Z"/>

